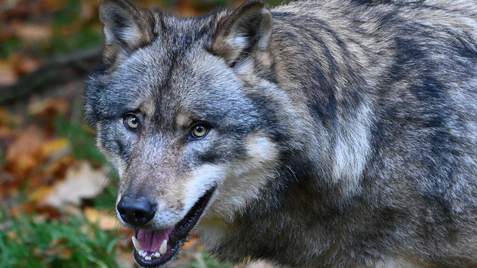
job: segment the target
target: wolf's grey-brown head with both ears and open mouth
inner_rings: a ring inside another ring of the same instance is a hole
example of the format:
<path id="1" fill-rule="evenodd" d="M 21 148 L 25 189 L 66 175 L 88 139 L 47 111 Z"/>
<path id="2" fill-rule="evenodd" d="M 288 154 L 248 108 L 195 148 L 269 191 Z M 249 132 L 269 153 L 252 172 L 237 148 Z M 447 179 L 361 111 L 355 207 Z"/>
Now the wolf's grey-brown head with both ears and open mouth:
<path id="1" fill-rule="evenodd" d="M 292 109 L 274 82 L 272 16 L 264 0 L 186 19 L 102 0 L 100 18 L 86 113 L 121 177 L 135 259 L 159 266 L 204 210 L 201 224 L 219 228 L 273 177 Z"/>

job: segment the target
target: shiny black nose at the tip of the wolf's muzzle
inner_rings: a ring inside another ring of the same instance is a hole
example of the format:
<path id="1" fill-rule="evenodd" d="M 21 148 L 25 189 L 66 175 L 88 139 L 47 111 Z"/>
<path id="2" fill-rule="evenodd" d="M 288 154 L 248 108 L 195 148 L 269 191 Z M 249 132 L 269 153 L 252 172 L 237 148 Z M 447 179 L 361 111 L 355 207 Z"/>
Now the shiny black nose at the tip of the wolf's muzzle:
<path id="1" fill-rule="evenodd" d="M 145 196 L 124 195 L 117 205 L 119 215 L 131 225 L 145 225 L 156 213 L 156 208 Z"/>

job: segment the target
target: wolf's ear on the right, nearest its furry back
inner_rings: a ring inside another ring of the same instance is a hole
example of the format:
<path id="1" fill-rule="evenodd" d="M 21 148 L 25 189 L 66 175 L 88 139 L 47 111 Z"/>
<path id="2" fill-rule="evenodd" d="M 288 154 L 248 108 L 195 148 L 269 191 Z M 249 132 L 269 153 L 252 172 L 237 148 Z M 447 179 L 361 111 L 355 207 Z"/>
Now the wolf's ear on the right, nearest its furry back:
<path id="1" fill-rule="evenodd" d="M 253 57 L 270 65 L 272 15 L 265 0 L 247 0 L 218 21 L 211 50 L 230 66 Z M 270 66 L 268 66 L 270 67 Z"/>

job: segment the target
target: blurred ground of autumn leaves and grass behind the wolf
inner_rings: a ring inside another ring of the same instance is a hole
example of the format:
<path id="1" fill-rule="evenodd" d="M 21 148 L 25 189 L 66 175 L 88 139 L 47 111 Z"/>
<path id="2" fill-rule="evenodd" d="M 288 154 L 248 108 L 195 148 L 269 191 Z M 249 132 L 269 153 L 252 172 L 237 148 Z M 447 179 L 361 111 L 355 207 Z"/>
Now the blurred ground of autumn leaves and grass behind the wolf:
<path id="1" fill-rule="evenodd" d="M 177 16 L 241 2 L 134 1 Z M 83 117 L 84 81 L 103 41 L 98 4 L 0 0 L 0 268 L 135 267 L 133 233 L 114 213 L 117 174 Z M 185 249 L 172 267 L 229 267 L 197 237 Z"/>

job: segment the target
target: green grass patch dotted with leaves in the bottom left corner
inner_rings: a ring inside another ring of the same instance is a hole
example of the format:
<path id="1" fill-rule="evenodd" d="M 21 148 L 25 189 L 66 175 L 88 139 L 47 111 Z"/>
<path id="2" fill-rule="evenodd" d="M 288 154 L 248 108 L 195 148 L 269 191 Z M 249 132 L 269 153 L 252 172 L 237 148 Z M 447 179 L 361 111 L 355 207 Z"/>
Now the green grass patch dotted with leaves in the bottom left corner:
<path id="1" fill-rule="evenodd" d="M 80 216 L 0 217 L 0 268 L 119 268 L 114 231 L 103 231 Z"/>

